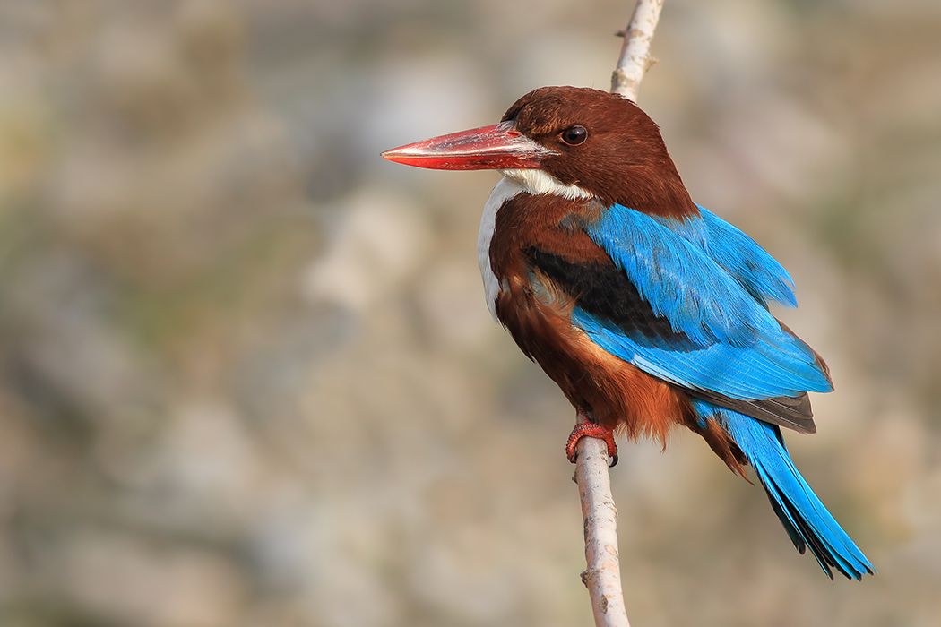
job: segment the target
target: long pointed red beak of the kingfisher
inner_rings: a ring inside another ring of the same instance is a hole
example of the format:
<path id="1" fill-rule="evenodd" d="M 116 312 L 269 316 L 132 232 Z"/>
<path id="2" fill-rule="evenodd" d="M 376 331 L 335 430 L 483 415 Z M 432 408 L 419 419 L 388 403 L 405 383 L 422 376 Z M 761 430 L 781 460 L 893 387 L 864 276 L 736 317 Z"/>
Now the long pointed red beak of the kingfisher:
<path id="1" fill-rule="evenodd" d="M 555 152 L 513 130 L 511 122 L 425 139 L 380 156 L 397 164 L 434 170 L 535 169 Z"/>

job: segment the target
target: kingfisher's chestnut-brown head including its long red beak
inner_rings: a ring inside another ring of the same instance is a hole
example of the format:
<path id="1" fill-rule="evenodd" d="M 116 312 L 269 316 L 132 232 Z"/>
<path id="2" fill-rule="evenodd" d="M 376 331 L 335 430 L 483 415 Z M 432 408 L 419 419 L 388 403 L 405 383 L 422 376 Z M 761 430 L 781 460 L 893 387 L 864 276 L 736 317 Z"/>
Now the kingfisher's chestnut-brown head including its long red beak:
<path id="1" fill-rule="evenodd" d="M 428 139 L 382 156 L 435 169 L 540 170 L 605 205 L 657 215 L 697 212 L 660 129 L 633 102 L 598 89 L 540 87 L 500 124 Z"/>

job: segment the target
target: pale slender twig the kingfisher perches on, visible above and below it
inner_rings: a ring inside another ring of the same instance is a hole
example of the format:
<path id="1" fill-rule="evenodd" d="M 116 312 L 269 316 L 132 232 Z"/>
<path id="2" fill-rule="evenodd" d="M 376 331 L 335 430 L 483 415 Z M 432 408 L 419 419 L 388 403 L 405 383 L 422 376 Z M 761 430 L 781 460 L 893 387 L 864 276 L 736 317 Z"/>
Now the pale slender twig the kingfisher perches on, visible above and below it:
<path id="1" fill-rule="evenodd" d="M 644 73 L 655 62 L 650 41 L 660 19 L 663 0 L 638 0 L 624 32 L 624 47 L 611 79 L 611 92 L 637 100 Z M 579 421 L 585 418 L 580 413 Z M 608 473 L 608 446 L 583 437 L 578 443 L 575 481 L 579 484 L 584 519 L 585 561 L 582 581 L 591 596 L 597 627 L 630 627 L 617 554 L 617 509 Z"/>

